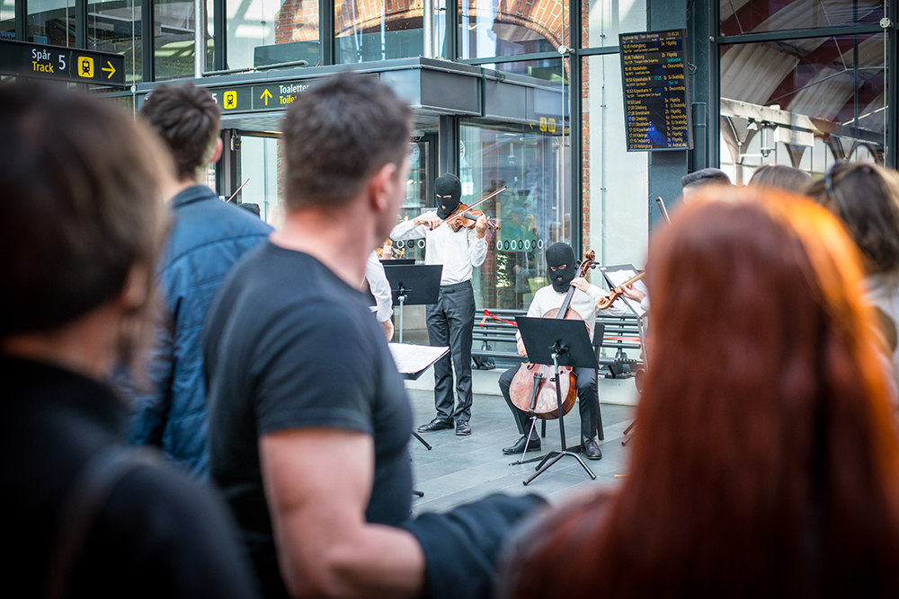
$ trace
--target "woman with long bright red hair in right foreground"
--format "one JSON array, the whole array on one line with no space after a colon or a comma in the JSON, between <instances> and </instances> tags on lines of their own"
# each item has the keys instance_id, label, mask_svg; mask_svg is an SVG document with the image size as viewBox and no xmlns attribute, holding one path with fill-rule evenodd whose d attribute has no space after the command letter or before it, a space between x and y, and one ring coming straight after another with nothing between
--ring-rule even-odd
<instances>
[{"instance_id":1,"label":"woman with long bright red hair in right foreground","mask_svg":"<svg viewBox=\"0 0 899 599\"><path fill-rule=\"evenodd\" d=\"M812 202L717 188L650 251L630 473L508 551L504 596L899 595L899 441L859 252Z\"/></svg>"}]
</instances>

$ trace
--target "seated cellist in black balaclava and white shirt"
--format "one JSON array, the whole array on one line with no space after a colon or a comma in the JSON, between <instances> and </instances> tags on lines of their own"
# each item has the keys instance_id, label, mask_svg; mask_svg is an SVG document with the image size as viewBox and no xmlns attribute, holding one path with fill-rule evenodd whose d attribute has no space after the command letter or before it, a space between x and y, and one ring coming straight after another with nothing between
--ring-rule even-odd
<instances>
[{"instance_id":1,"label":"seated cellist in black balaclava and white shirt","mask_svg":"<svg viewBox=\"0 0 899 599\"><path fill-rule=\"evenodd\" d=\"M547 248L549 285L538 289L534 294L534 299L528 308L528 316L543 316L550 310L561 307L565 296L568 295L568 290L574 287L571 308L587 322L592 335L593 322L596 321L598 312L597 303L604 294L599 287L588 283L587 279L574 278L574 273L577 271L574 261L574 250L567 243L553 243ZM604 313L622 316L627 313L627 308L620 303L612 304ZM522 357L527 357L520 335L518 336L518 353ZM522 436L513 445L504 448L503 454L524 454L525 449L529 452L540 449L540 437L536 430L530 434L530 441L528 439L531 424L528 414L516 408L512 403L509 387L512 385L512 378L516 372L518 372L517 368L510 368L500 375L500 391L503 392L503 397L509 405L509 409L512 410L518 432ZM577 375L577 406L581 412L581 448L588 459L599 460L602 452L597 436L600 400L596 394L596 371L592 368L575 368L574 374Z\"/></svg>"}]
</instances>

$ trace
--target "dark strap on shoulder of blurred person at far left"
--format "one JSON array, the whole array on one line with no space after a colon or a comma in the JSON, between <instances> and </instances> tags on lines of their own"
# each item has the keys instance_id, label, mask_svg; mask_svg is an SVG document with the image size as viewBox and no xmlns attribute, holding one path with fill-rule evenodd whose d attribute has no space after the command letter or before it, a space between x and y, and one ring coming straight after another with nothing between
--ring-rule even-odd
<instances>
[{"instance_id":1,"label":"dark strap on shoulder of blurred person at far left","mask_svg":"<svg viewBox=\"0 0 899 599\"><path fill-rule=\"evenodd\" d=\"M49 554L44 599L67 595L72 568L112 489L130 471L159 462L155 450L125 445L108 445L88 459L62 503L59 529Z\"/></svg>"}]
</instances>

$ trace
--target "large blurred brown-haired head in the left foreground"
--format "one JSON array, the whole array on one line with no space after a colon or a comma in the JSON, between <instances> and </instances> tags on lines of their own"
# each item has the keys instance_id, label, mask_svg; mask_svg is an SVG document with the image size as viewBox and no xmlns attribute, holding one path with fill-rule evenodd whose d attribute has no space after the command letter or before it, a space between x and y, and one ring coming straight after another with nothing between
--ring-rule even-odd
<instances>
[{"instance_id":1,"label":"large blurred brown-haired head in the left foreground","mask_svg":"<svg viewBox=\"0 0 899 599\"><path fill-rule=\"evenodd\" d=\"M171 164L147 128L80 93L3 84L0 138L0 337L76 320L135 265L152 277Z\"/></svg>"}]
</instances>

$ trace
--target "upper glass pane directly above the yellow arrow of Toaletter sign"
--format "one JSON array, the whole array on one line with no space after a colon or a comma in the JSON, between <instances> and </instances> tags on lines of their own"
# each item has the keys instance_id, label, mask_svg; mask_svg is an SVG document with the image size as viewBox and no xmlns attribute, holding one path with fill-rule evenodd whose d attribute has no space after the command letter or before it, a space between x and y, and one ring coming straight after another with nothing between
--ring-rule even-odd
<instances>
[{"instance_id":1,"label":"upper glass pane directly above the yellow arrow of Toaletter sign","mask_svg":"<svg viewBox=\"0 0 899 599\"><path fill-rule=\"evenodd\" d=\"M317 0L227 4L227 66L248 68L306 60L318 64Z\"/></svg>"}]
</instances>

